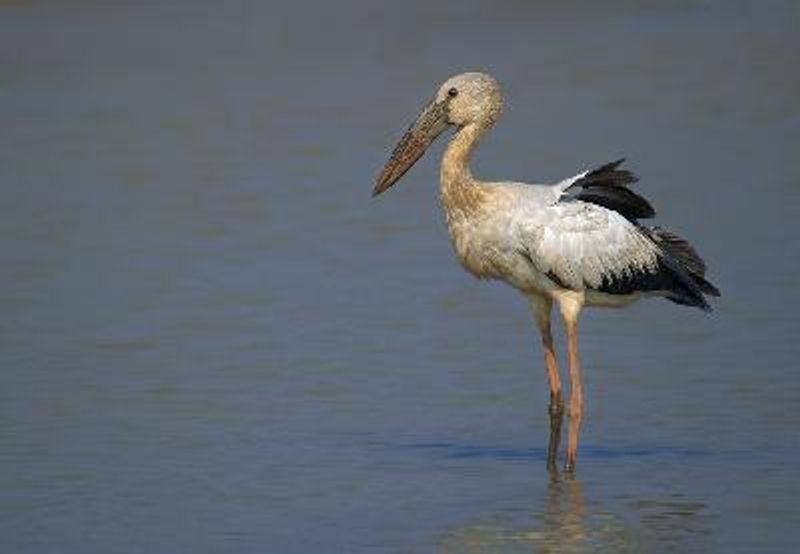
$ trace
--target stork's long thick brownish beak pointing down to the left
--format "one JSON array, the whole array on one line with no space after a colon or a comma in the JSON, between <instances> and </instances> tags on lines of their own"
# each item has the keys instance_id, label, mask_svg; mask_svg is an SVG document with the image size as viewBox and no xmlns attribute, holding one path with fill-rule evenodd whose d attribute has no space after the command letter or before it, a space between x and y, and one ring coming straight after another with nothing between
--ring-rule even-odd
<instances>
[{"instance_id":1,"label":"stork's long thick brownish beak pointing down to the left","mask_svg":"<svg viewBox=\"0 0 800 554\"><path fill-rule=\"evenodd\" d=\"M405 175L406 171L422 157L428 146L447 128L447 102L432 101L417 116L406 134L392 150L389 161L383 166L372 196L377 196Z\"/></svg>"}]
</instances>

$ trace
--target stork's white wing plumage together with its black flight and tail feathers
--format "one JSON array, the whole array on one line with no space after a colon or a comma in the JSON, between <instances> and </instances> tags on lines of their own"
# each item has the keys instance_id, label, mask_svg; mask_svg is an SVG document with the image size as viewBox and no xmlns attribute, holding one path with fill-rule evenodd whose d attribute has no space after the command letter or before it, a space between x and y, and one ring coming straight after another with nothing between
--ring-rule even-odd
<instances>
[{"instance_id":1,"label":"stork's white wing plumage together with its black flight and tail feathers","mask_svg":"<svg viewBox=\"0 0 800 554\"><path fill-rule=\"evenodd\" d=\"M563 288L660 292L710 310L703 294L719 291L704 279L705 265L686 241L636 221L655 211L628 188L637 179L619 169L622 161L565 179L549 200L518 212L520 254Z\"/></svg>"}]
</instances>

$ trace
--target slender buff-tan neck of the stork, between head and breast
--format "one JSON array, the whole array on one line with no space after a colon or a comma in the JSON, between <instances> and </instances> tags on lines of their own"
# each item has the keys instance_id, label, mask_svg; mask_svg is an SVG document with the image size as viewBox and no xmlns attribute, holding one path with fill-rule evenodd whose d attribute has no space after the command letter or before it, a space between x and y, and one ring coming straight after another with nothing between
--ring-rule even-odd
<instances>
[{"instance_id":1,"label":"slender buff-tan neck of the stork, between head and breast","mask_svg":"<svg viewBox=\"0 0 800 554\"><path fill-rule=\"evenodd\" d=\"M483 201L484 191L472 177L470 160L472 151L478 144L485 126L471 123L460 128L444 151L441 167L442 204L448 216L468 215L478 209Z\"/></svg>"}]
</instances>

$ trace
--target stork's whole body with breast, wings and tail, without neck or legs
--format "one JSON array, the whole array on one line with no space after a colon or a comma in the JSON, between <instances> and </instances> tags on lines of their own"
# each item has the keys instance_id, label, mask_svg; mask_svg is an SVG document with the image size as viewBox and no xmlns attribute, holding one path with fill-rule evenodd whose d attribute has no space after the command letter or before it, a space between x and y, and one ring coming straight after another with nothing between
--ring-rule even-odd
<instances>
[{"instance_id":1,"label":"stork's whole body with breast, wings and tail, without neck or legs","mask_svg":"<svg viewBox=\"0 0 800 554\"><path fill-rule=\"evenodd\" d=\"M709 309L703 295L719 291L702 259L674 233L638 221L655 211L629 188L636 178L620 163L554 185L478 183L481 209L448 217L459 261L524 291L586 291L589 304L659 294Z\"/></svg>"}]
</instances>

